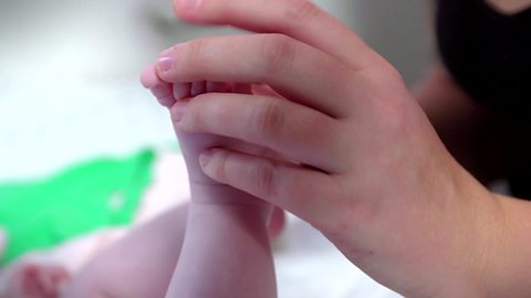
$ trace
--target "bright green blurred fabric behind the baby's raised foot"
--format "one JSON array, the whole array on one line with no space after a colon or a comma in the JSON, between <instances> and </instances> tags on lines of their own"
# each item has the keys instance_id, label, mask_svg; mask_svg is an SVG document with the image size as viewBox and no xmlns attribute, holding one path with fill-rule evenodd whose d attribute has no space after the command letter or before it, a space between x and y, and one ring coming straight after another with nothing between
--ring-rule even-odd
<instances>
[{"instance_id":1,"label":"bright green blurred fabric behind the baby's raised foot","mask_svg":"<svg viewBox=\"0 0 531 298\"><path fill-rule=\"evenodd\" d=\"M0 225L8 246L0 264L100 227L131 223L152 180L155 153L97 159L45 181L0 185Z\"/></svg>"}]
</instances>

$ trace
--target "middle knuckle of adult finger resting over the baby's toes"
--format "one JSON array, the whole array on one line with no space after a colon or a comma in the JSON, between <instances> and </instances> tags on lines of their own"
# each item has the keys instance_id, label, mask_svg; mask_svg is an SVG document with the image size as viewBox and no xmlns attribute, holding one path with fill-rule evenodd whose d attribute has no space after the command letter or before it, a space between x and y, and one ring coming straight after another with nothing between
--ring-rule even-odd
<instances>
[{"instance_id":1,"label":"middle knuckle of adult finger resting over the baby's toes","mask_svg":"<svg viewBox=\"0 0 531 298\"><path fill-rule=\"evenodd\" d=\"M291 64L295 57L294 41L283 34L267 34L262 38L262 63L267 73L275 73Z\"/></svg>"}]
</instances>

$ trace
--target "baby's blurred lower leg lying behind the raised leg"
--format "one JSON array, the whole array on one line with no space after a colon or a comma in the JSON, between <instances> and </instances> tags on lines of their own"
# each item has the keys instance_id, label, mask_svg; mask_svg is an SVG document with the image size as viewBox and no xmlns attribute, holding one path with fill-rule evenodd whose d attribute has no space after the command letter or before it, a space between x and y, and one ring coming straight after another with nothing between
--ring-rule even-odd
<instances>
[{"instance_id":1,"label":"baby's blurred lower leg lying behind the raised leg","mask_svg":"<svg viewBox=\"0 0 531 298\"><path fill-rule=\"evenodd\" d=\"M61 297L164 297L180 253L187 212L187 205L175 207L132 231L75 275Z\"/></svg>"}]
</instances>

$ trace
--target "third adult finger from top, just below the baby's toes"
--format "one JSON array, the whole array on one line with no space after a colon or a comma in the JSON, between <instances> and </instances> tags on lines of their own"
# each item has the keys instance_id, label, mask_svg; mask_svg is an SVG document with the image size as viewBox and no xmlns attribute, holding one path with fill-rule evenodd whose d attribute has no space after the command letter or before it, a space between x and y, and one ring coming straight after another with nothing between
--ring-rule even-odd
<instances>
[{"instance_id":1,"label":"third adult finger from top, just below the baby's toes","mask_svg":"<svg viewBox=\"0 0 531 298\"><path fill-rule=\"evenodd\" d=\"M330 173L342 172L348 150L340 121L289 100L244 95L204 94L170 109L179 130L207 132L267 147ZM238 115L238 117L235 117Z\"/></svg>"}]
</instances>

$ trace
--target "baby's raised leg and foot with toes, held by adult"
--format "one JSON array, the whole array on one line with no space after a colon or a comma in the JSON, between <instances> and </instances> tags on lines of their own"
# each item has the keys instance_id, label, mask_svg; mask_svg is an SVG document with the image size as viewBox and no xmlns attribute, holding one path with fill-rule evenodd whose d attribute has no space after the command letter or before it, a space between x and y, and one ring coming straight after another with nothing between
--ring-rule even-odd
<instances>
[{"instance_id":1,"label":"baby's raised leg and foot with toes, held by adult","mask_svg":"<svg viewBox=\"0 0 531 298\"><path fill-rule=\"evenodd\" d=\"M163 106L178 110L205 93L249 93L249 85L211 81L167 83L148 66L142 83ZM166 297L275 297L267 223L271 205L202 173L199 153L212 147L267 155L225 137L176 129L191 191L186 237ZM227 275L226 273L231 273Z\"/></svg>"}]
</instances>

